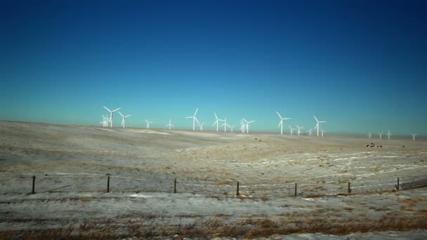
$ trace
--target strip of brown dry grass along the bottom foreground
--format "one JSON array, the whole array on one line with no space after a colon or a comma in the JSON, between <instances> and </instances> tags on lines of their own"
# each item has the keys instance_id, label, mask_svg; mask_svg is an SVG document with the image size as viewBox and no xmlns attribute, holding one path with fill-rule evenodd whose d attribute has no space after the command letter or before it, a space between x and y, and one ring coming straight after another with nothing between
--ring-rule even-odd
<instances>
[{"instance_id":1,"label":"strip of brown dry grass along the bottom foreground","mask_svg":"<svg viewBox=\"0 0 427 240\"><path fill-rule=\"evenodd\" d=\"M322 233L346 235L353 232L411 231L427 228L426 214L399 215L387 214L380 220L370 218L347 219L331 218L325 215L305 218L278 218L265 216L241 218L234 222L222 222L221 218L210 220L195 219L194 223L181 225L167 218L136 218L132 220L86 221L79 227L62 229L26 229L24 231L3 231L5 239L120 239L129 236L152 238L172 237L268 237L274 234Z\"/></svg>"}]
</instances>

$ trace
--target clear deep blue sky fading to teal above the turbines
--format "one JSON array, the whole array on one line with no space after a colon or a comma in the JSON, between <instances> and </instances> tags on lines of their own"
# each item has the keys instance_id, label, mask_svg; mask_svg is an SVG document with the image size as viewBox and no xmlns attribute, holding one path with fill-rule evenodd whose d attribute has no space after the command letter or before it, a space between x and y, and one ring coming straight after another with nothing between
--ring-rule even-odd
<instances>
[{"instance_id":1,"label":"clear deep blue sky fading to teal above the turbines","mask_svg":"<svg viewBox=\"0 0 427 240\"><path fill-rule=\"evenodd\" d=\"M427 135L425 3L2 2L0 120Z\"/></svg>"}]
</instances>

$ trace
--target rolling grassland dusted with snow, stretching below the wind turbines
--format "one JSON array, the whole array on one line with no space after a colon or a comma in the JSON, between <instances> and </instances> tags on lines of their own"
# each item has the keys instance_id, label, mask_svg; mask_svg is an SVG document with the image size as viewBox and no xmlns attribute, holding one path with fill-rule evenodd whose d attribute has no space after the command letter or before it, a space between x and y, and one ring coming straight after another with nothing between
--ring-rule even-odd
<instances>
[{"instance_id":1,"label":"rolling grassland dusted with snow, stretching below the wind turbines","mask_svg":"<svg viewBox=\"0 0 427 240\"><path fill-rule=\"evenodd\" d=\"M427 176L426 156L427 141L411 138L0 121L0 232L426 239L426 189L395 190L397 178ZM29 194L33 175L36 194Z\"/></svg>"}]
</instances>

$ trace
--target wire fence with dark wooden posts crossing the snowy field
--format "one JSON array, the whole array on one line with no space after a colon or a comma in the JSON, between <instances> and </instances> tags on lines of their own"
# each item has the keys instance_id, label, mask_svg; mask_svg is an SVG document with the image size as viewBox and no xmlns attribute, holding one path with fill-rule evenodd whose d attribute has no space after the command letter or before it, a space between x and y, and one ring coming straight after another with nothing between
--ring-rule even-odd
<instances>
[{"instance_id":1,"label":"wire fence with dark wooden posts crossing the snowy field","mask_svg":"<svg viewBox=\"0 0 427 240\"><path fill-rule=\"evenodd\" d=\"M244 185L242 182L210 182L147 175L129 178L121 175L56 174L19 175L0 178L0 194L49 192L180 192L213 197L323 196L367 194L388 190L427 187L427 176L355 182L285 182L283 184Z\"/></svg>"}]
</instances>

